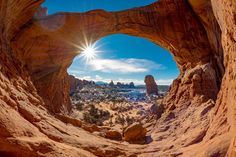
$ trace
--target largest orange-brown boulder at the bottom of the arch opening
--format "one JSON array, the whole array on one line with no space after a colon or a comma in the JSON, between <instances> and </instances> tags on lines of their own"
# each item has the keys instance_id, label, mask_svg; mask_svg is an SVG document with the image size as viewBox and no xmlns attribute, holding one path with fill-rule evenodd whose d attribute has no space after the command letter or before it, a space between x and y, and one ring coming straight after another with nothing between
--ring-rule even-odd
<instances>
[{"instance_id":1,"label":"largest orange-brown boulder at the bottom of the arch opening","mask_svg":"<svg viewBox=\"0 0 236 157\"><path fill-rule=\"evenodd\" d=\"M124 140L129 143L145 143L147 129L139 123L134 123L124 130Z\"/></svg>"}]
</instances>

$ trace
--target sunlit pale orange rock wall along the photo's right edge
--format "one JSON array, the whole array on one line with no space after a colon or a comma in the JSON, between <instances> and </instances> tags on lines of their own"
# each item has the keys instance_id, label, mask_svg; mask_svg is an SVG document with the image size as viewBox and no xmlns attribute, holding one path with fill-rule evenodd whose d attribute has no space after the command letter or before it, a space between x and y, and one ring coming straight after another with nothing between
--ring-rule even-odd
<instances>
[{"instance_id":1,"label":"sunlit pale orange rock wall along the photo's right edge","mask_svg":"<svg viewBox=\"0 0 236 157\"><path fill-rule=\"evenodd\" d=\"M215 113L212 130L221 130L219 118L225 119L230 126L231 146L228 156L236 156L236 1L212 0L216 19L222 30L225 75L217 99L218 110Z\"/></svg>"}]
</instances>

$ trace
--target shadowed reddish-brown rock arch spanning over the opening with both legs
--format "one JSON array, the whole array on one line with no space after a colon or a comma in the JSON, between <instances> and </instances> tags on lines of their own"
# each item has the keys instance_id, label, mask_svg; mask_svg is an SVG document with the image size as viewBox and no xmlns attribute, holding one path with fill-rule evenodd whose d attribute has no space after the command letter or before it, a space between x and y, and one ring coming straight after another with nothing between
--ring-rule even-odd
<instances>
[{"instance_id":1,"label":"shadowed reddish-brown rock arch spanning over the opening with both legs","mask_svg":"<svg viewBox=\"0 0 236 157\"><path fill-rule=\"evenodd\" d=\"M52 112L70 110L66 69L78 54L78 46L85 38L94 42L116 33L146 38L172 53L181 74L167 99L169 103L178 99L175 103L180 104L183 95L184 101L195 95L216 99L223 72L215 66L217 61L213 56L219 56L189 5L185 0L162 0L120 12L95 10L38 16L24 26L12 46ZM211 88L206 89L209 82ZM177 86L184 88L175 91ZM190 91L184 92L186 89Z\"/></svg>"}]
</instances>

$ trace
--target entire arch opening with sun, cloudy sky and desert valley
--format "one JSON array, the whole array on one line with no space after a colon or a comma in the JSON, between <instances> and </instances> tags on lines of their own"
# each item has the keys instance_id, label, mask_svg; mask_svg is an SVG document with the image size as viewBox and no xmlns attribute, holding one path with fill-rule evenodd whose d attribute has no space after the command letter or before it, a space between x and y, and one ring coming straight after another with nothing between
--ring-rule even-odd
<instances>
[{"instance_id":1,"label":"entire arch opening with sun, cloudy sky and desert valley","mask_svg":"<svg viewBox=\"0 0 236 157\"><path fill-rule=\"evenodd\" d=\"M143 127L147 121L160 118L164 112L161 102L179 75L176 62L167 50L147 39L124 34L109 35L95 44L84 45L67 69L75 118L116 130L124 139L125 128L132 124ZM91 54L94 54L92 58ZM145 84L150 75L154 82ZM157 91L149 93L150 88L155 89L153 83L157 83ZM149 124L145 127L148 130L145 138L126 140L138 144L152 142L155 123Z\"/></svg>"}]
</instances>

